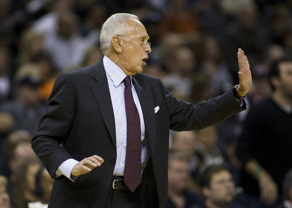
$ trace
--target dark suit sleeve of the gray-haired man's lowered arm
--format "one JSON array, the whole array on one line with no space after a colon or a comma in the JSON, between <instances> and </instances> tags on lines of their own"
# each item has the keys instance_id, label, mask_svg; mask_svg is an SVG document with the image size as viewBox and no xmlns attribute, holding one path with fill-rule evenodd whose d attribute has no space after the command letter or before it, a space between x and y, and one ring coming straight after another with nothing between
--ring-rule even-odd
<instances>
[{"instance_id":1,"label":"dark suit sleeve of the gray-haired man's lowered arm","mask_svg":"<svg viewBox=\"0 0 292 208\"><path fill-rule=\"evenodd\" d=\"M72 158L60 144L66 142L74 115L73 85L66 74L61 74L55 81L47 111L32 139L32 148L52 178L60 164Z\"/></svg>"}]
</instances>

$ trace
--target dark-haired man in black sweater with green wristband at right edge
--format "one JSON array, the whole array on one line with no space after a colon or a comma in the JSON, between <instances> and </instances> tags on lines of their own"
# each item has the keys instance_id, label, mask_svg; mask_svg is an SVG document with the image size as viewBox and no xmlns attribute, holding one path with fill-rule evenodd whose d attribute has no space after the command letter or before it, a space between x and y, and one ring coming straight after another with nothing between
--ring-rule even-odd
<instances>
[{"instance_id":1,"label":"dark-haired man in black sweater with green wristband at right edge","mask_svg":"<svg viewBox=\"0 0 292 208\"><path fill-rule=\"evenodd\" d=\"M249 208L279 203L284 175L292 168L292 61L272 64L269 80L272 95L250 110L237 143L244 165L238 200Z\"/></svg>"}]
</instances>

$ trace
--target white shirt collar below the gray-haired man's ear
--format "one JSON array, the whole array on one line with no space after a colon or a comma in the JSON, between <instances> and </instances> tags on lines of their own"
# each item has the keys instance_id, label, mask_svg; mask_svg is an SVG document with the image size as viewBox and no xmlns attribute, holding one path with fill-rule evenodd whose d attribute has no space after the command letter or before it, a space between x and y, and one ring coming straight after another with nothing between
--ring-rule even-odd
<instances>
[{"instance_id":1,"label":"white shirt collar below the gray-haired man's ear","mask_svg":"<svg viewBox=\"0 0 292 208\"><path fill-rule=\"evenodd\" d=\"M125 72L113 63L107 56L104 56L103 64L115 87L117 87L125 79L125 77L127 77Z\"/></svg>"}]
</instances>

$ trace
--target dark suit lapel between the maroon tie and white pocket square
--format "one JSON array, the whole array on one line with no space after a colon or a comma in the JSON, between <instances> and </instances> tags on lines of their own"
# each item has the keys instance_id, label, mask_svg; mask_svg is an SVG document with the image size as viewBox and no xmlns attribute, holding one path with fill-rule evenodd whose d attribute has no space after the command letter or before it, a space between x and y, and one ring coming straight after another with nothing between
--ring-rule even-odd
<instances>
[{"instance_id":1,"label":"dark suit lapel between the maroon tie and white pocket square","mask_svg":"<svg viewBox=\"0 0 292 208\"><path fill-rule=\"evenodd\" d=\"M155 149L155 113L153 107L153 100L150 92L146 91L139 85L137 80L132 76L132 82L135 87L135 91L139 98L139 102L143 112L144 124L145 124L145 137L148 140L150 154L153 157Z\"/></svg>"}]
</instances>

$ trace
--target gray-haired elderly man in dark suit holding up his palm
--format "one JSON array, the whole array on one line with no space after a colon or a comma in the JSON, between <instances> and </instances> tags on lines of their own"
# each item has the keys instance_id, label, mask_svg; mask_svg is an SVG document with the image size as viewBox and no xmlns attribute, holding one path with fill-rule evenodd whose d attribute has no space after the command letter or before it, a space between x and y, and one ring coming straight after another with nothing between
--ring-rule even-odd
<instances>
[{"instance_id":1,"label":"gray-haired elderly man in dark suit holding up his palm","mask_svg":"<svg viewBox=\"0 0 292 208\"><path fill-rule=\"evenodd\" d=\"M169 129L204 128L246 108L252 79L241 49L239 86L194 105L141 73L148 39L137 16L112 15L100 33L103 60L56 79L32 141L55 178L49 208L163 208Z\"/></svg>"}]
</instances>

